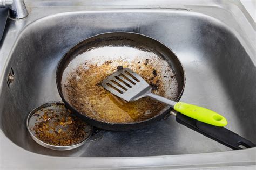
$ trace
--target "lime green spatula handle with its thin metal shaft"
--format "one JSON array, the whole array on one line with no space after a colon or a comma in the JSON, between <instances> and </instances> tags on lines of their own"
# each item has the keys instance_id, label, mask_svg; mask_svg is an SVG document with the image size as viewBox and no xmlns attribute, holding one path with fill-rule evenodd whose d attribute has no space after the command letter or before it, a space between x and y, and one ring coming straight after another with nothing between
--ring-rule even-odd
<instances>
[{"instance_id":1,"label":"lime green spatula handle with its thin metal shaft","mask_svg":"<svg viewBox=\"0 0 256 170\"><path fill-rule=\"evenodd\" d=\"M180 112L183 115L196 119L198 121L211 124L214 126L227 125L227 120L225 117L221 116L217 112L212 111L210 109L202 108L197 105L192 105L192 104L183 103L183 102L177 103L153 93L146 94L146 96L154 98L159 102L171 105L171 107L173 107L174 110Z\"/></svg>"}]
</instances>

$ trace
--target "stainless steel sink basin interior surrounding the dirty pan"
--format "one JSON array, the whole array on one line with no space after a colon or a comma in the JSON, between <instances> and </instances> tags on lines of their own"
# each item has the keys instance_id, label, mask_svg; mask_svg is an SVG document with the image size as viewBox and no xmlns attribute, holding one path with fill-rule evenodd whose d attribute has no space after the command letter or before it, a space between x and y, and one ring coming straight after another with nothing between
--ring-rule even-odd
<instances>
[{"instance_id":1,"label":"stainless steel sink basin interior surrounding the dirty pan","mask_svg":"<svg viewBox=\"0 0 256 170\"><path fill-rule=\"evenodd\" d=\"M47 23L47 24L45 24ZM173 117L148 128L104 133L73 151L49 151L26 130L30 110L60 101L56 67L69 48L95 34L129 31L169 46L184 65L182 100L222 113L228 128L256 141L254 104L256 77L252 60L237 38L217 20L187 12L71 12L37 20L19 36L9 68L14 82L5 83L2 126L5 135L26 150L77 157L130 157L227 151L227 147L176 123ZM10 86L10 88L9 88ZM15 103L15 104L14 104ZM150 150L148 148L151 148Z\"/></svg>"}]
</instances>

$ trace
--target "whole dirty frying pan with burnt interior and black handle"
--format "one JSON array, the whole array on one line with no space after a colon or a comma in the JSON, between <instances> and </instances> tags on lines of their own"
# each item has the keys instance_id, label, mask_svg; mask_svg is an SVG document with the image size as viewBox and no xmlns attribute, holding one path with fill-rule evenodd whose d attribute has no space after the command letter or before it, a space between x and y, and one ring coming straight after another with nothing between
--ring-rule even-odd
<instances>
[{"instance_id":1,"label":"whole dirty frying pan with burnt interior and black handle","mask_svg":"<svg viewBox=\"0 0 256 170\"><path fill-rule=\"evenodd\" d=\"M128 103L114 96L101 83L122 67L142 76L154 94L176 102L183 94L184 69L170 48L142 34L110 32L79 42L60 60L56 82L66 107L106 130L140 129L171 114L178 123L234 150L255 146L226 128L197 121L151 98Z\"/></svg>"}]
</instances>

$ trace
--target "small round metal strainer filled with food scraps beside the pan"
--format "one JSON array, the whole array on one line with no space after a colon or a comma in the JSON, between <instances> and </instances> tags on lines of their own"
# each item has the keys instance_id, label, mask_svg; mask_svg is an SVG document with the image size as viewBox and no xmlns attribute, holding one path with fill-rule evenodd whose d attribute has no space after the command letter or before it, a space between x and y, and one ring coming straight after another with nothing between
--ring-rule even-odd
<instances>
[{"instance_id":1,"label":"small round metal strainer filled with food scraps beside the pan","mask_svg":"<svg viewBox=\"0 0 256 170\"><path fill-rule=\"evenodd\" d=\"M46 103L33 109L26 127L33 140L52 150L77 148L92 134L92 126L73 116L62 102Z\"/></svg>"}]
</instances>

